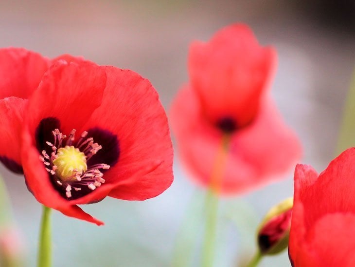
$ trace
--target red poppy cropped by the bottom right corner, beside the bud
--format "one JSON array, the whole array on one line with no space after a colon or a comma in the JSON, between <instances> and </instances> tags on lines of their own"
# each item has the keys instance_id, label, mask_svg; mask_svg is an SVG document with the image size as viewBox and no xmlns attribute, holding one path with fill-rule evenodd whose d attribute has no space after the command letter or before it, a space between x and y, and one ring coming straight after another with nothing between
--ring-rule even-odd
<instances>
[{"instance_id":1,"label":"red poppy cropped by the bottom right corner, beside the bud","mask_svg":"<svg viewBox=\"0 0 355 267\"><path fill-rule=\"evenodd\" d=\"M317 174L295 170L289 255L294 267L355 266L355 148Z\"/></svg>"}]
</instances>

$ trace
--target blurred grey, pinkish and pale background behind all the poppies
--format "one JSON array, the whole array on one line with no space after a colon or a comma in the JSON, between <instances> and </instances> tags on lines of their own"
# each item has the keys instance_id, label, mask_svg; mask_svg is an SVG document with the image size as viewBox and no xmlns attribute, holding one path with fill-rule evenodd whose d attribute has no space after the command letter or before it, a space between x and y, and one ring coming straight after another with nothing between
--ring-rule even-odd
<instances>
[{"instance_id":1,"label":"blurred grey, pinkish and pale background behind all the poppies","mask_svg":"<svg viewBox=\"0 0 355 267\"><path fill-rule=\"evenodd\" d=\"M247 23L262 44L277 49L272 95L302 140L302 162L322 171L335 155L342 105L355 66L353 1L2 0L0 47L25 47L47 57L81 55L101 65L134 70L152 82L168 110L179 86L188 80L189 43L208 40L221 27L238 21ZM106 198L83 207L103 220L104 227L54 211L53 266L170 266L181 223L193 205L197 216L203 194L180 166L176 152L175 181L157 198L144 202ZM26 266L35 266L41 206L23 177L2 166L0 172L25 238ZM221 219L215 266L236 266L249 253L252 229L260 218L293 194L292 172L281 182L221 201L229 215ZM189 224L191 239L201 239L203 225ZM191 266L198 266L200 243ZM287 253L269 257L261 266L289 266Z\"/></svg>"}]
</instances>

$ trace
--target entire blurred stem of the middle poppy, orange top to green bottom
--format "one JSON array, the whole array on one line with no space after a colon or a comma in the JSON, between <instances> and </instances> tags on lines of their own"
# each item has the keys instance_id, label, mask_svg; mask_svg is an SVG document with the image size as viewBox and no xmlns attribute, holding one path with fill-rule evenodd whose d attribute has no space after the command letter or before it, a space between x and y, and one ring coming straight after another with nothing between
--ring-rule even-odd
<instances>
[{"instance_id":1,"label":"entire blurred stem of the middle poppy, orange top to green bottom","mask_svg":"<svg viewBox=\"0 0 355 267\"><path fill-rule=\"evenodd\" d=\"M217 229L218 194L225 172L230 135L224 134L213 165L210 186L206 194L206 230L202 251L202 266L212 267Z\"/></svg>"}]
</instances>

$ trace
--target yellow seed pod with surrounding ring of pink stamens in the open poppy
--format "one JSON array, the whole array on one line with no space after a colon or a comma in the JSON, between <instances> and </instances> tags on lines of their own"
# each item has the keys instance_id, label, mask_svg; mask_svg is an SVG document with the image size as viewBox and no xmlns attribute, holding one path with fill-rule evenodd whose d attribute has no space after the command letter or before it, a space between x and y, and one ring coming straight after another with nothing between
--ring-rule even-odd
<instances>
[{"instance_id":1,"label":"yellow seed pod with surrounding ring of pink stamens in the open poppy","mask_svg":"<svg viewBox=\"0 0 355 267\"><path fill-rule=\"evenodd\" d=\"M77 142L74 142L75 129L68 138L58 129L52 131L52 134L54 142L46 142L52 153L49 155L43 150L39 159L63 196L71 198L72 191L82 191L80 196L83 196L105 183L104 173L100 170L108 170L110 166L105 163L88 163L89 159L102 149L92 137L87 138L88 132L83 132Z\"/></svg>"}]
</instances>

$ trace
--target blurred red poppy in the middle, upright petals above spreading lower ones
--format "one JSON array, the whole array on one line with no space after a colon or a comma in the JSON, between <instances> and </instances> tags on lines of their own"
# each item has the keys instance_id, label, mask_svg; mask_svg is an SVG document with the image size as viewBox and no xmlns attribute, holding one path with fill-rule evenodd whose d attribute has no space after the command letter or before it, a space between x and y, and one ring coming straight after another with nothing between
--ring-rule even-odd
<instances>
[{"instance_id":1,"label":"blurred red poppy in the middle, upright petals above spreading lower ones","mask_svg":"<svg viewBox=\"0 0 355 267\"><path fill-rule=\"evenodd\" d=\"M208 186L222 135L230 135L222 193L240 193L286 172L301 146L267 94L276 53L234 24L190 47L190 84L178 93L171 124L184 163Z\"/></svg>"}]
</instances>

